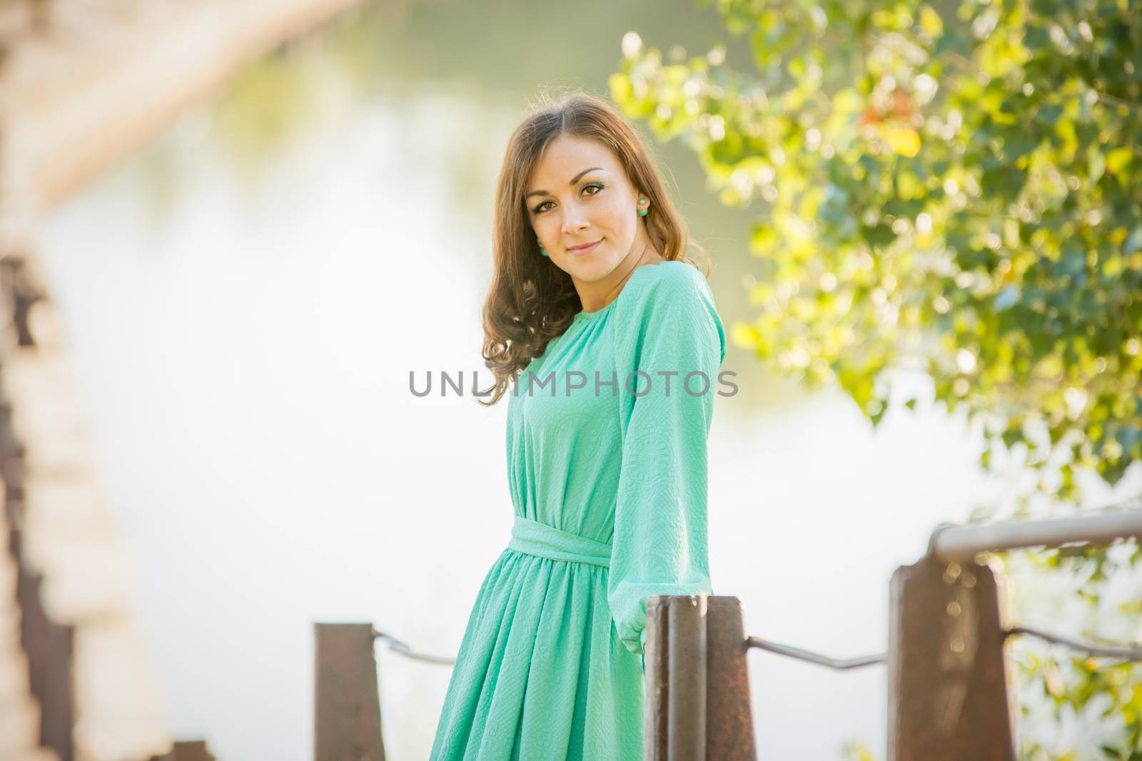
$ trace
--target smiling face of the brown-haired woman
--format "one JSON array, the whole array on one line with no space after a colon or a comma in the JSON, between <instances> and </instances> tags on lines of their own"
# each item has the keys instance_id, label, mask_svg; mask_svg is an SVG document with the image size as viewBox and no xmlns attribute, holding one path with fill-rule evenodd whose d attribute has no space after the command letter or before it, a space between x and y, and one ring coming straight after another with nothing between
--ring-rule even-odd
<instances>
[{"instance_id":1,"label":"smiling face of the brown-haired woman","mask_svg":"<svg viewBox=\"0 0 1142 761\"><path fill-rule=\"evenodd\" d=\"M547 256L585 282L610 275L648 241L638 199L610 148L569 135L547 144L524 187L528 218ZM648 200L641 208L649 207ZM582 244L588 248L577 252Z\"/></svg>"}]
</instances>

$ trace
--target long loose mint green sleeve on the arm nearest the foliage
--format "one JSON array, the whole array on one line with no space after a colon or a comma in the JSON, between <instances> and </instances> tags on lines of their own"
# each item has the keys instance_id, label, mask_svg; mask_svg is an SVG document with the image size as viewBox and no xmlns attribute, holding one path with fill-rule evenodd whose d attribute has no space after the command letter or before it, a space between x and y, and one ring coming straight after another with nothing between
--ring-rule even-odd
<instances>
[{"instance_id":1,"label":"long loose mint green sleeve on the arm nearest the foliage","mask_svg":"<svg viewBox=\"0 0 1142 761\"><path fill-rule=\"evenodd\" d=\"M638 655L648 596L713 593L706 447L725 358L706 277L685 262L645 266L662 272L614 314L622 464L608 581L619 639Z\"/></svg>"}]
</instances>

